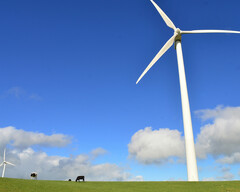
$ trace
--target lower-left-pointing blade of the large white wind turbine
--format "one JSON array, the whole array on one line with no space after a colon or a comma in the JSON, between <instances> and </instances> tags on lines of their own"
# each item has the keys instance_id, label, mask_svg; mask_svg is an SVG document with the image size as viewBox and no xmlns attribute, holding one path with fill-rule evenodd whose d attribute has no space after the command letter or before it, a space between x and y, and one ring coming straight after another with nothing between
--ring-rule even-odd
<instances>
[{"instance_id":1,"label":"lower-left-pointing blade of the large white wind turbine","mask_svg":"<svg viewBox=\"0 0 240 192\"><path fill-rule=\"evenodd\" d=\"M142 77L148 72L148 70L157 62L157 60L173 45L175 37L177 34L174 34L168 41L165 43L165 45L162 47L162 49L157 53L157 55L153 58L151 63L147 66L147 68L143 71L141 76L138 78L136 84L142 79Z\"/></svg>"}]
</instances>

